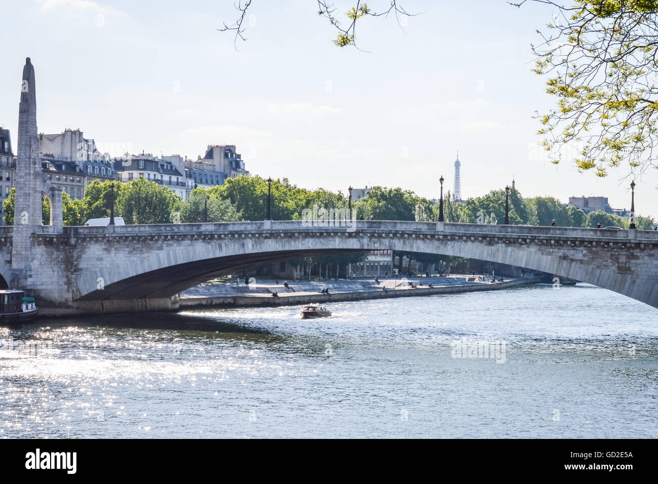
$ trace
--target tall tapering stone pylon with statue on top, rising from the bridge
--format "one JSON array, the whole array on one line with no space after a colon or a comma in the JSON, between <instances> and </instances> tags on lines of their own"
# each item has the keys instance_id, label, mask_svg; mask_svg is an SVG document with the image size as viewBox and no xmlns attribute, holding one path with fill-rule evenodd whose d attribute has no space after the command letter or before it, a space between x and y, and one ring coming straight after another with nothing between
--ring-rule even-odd
<instances>
[{"instance_id":1,"label":"tall tapering stone pylon with statue on top, rising from the bridge","mask_svg":"<svg viewBox=\"0 0 658 484\"><path fill-rule=\"evenodd\" d=\"M12 269L27 269L30 264L30 236L43 232L41 227L41 194L51 200L51 224L61 231L62 192L52 186L41 172L39 136L37 130L37 94L34 66L25 59L18 105L18 152L16 155L16 187L14 203L14 235L11 256ZM24 279L24 278L21 278Z\"/></svg>"}]
</instances>

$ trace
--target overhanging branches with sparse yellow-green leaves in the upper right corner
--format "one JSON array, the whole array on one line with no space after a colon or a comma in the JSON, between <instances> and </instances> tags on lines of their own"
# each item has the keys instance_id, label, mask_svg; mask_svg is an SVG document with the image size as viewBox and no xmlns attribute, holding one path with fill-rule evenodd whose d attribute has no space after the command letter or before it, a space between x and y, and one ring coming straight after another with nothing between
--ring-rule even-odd
<instances>
[{"instance_id":1,"label":"overhanging branches with sparse yellow-green leaves in the upper right corner","mask_svg":"<svg viewBox=\"0 0 658 484\"><path fill-rule=\"evenodd\" d=\"M559 163L565 147L576 145L579 171L627 161L630 173L655 167L658 124L658 1L572 0L557 9L539 47L537 74L549 75L546 92L555 109L540 116L544 148ZM522 0L517 6L525 3Z\"/></svg>"}]
</instances>

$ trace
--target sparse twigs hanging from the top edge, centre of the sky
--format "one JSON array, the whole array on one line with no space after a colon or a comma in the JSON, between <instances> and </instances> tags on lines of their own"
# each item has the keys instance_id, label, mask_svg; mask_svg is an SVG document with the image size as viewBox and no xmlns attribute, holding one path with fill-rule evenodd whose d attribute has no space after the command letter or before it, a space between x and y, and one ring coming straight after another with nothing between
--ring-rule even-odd
<instances>
[{"instance_id":1,"label":"sparse twigs hanging from the top edge, centre of the sky","mask_svg":"<svg viewBox=\"0 0 658 484\"><path fill-rule=\"evenodd\" d=\"M342 24L338 18L334 15L336 12L336 8L332 3L327 2L326 0L317 0L318 2L318 15L321 17L326 18L329 20L329 23L338 30L338 36L336 39L333 41L335 45L338 47L345 47L346 45L353 45L356 47L356 27L357 27L357 20L365 17L365 16L371 16L371 17L378 17L378 16L388 16L388 14L393 13L395 14L395 18L397 19L397 22L401 24L401 18L409 17L409 16L414 16L415 14L410 14L403 9L400 5L397 5L396 0L388 0L390 1L390 4L388 5L388 9L381 11L380 13L375 13L368 7L367 3L361 0L357 0L351 9L347 11L347 18L349 19L349 24L347 24L346 28L342 27ZM240 1L238 1L238 4L236 5L236 9L239 12L238 20L234 22L234 24L228 26L226 23L224 23L223 28L218 28L217 30L219 32L228 32L228 31L234 31L236 32L235 38L233 40L234 46L236 47L236 50L238 49L237 47L237 42L238 38L241 40L246 40L243 36L246 28L242 26L242 24L245 22L245 18L247 16L247 9L251 7L251 0L245 1L244 4L242 4ZM357 47L358 48L358 47Z\"/></svg>"}]
</instances>

